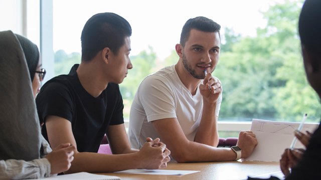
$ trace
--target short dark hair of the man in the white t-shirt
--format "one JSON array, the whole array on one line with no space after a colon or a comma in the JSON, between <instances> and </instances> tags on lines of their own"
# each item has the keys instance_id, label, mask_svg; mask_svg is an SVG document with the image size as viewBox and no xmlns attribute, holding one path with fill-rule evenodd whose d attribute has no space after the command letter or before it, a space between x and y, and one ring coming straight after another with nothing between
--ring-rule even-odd
<instances>
[{"instance_id":1,"label":"short dark hair of the man in the white t-shirt","mask_svg":"<svg viewBox=\"0 0 321 180\"><path fill-rule=\"evenodd\" d=\"M182 44L183 46L185 46L185 43L189 38L192 29L197 29L204 32L218 32L220 36L221 25L214 22L212 19L203 16L188 19L185 22L181 33L180 44Z\"/></svg>"}]
</instances>

